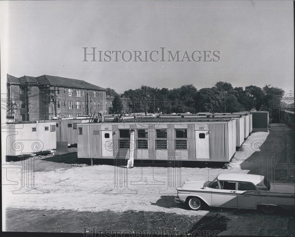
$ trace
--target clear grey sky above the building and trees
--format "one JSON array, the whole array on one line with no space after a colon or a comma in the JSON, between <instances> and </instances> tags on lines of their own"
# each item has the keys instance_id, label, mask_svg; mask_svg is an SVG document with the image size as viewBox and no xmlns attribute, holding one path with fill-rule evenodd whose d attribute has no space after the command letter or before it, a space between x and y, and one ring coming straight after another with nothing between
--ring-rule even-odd
<instances>
[{"instance_id":1,"label":"clear grey sky above the building and trees","mask_svg":"<svg viewBox=\"0 0 295 237\"><path fill-rule=\"evenodd\" d=\"M118 93L218 81L294 93L293 1L0 1L0 27L1 84L7 73L46 74ZM84 61L83 48L92 53L91 47L96 61L93 55ZM153 62L149 55L161 55L160 47L164 60L153 52ZM108 50L126 51L125 61L113 53L100 62L98 51ZM143 62L134 61L136 50ZM168 61L168 50L179 50L180 59ZM207 58L204 51L211 51ZM189 58L181 61L185 52Z\"/></svg>"}]
</instances>

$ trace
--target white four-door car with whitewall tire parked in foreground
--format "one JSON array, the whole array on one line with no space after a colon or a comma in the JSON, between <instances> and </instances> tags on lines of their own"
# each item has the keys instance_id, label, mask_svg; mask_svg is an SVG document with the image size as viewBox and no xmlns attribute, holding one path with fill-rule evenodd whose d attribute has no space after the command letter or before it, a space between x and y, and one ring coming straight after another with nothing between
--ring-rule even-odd
<instances>
[{"instance_id":1,"label":"white four-door car with whitewall tire parked in foreground","mask_svg":"<svg viewBox=\"0 0 295 237\"><path fill-rule=\"evenodd\" d=\"M212 182L184 182L177 188L175 202L186 203L192 210L200 210L207 204L212 207L261 208L264 213L271 214L276 207L295 207L292 189L294 186L287 193L272 190L261 175L219 174Z\"/></svg>"}]
</instances>

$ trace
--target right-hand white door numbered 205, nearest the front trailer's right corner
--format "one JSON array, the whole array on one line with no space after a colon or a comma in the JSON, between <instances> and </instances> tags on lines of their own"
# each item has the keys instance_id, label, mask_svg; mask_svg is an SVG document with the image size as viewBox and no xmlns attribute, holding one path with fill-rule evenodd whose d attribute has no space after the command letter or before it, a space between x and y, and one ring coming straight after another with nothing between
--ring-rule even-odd
<instances>
[{"instance_id":1,"label":"right-hand white door numbered 205, nearest the front trailer's right corner","mask_svg":"<svg viewBox=\"0 0 295 237\"><path fill-rule=\"evenodd\" d=\"M208 125L196 125L196 160L209 160L209 130Z\"/></svg>"}]
</instances>

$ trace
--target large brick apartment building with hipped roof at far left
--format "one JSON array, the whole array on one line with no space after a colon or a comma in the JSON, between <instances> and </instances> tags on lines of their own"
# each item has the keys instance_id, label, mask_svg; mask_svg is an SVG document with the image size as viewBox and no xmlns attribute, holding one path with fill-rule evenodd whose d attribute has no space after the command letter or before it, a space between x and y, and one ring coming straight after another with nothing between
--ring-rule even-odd
<instances>
[{"instance_id":1,"label":"large brick apartment building with hipped roof at far left","mask_svg":"<svg viewBox=\"0 0 295 237\"><path fill-rule=\"evenodd\" d=\"M106 89L83 80L7 74L7 116L15 121L49 120L106 112Z\"/></svg>"}]
</instances>

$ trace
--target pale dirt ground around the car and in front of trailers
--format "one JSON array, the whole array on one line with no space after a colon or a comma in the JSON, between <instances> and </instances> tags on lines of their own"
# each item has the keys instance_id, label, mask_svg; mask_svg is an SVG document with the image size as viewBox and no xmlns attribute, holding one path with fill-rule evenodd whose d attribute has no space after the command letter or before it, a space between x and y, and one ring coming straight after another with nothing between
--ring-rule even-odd
<instances>
[{"instance_id":1,"label":"pale dirt ground around the car and in front of trailers","mask_svg":"<svg viewBox=\"0 0 295 237\"><path fill-rule=\"evenodd\" d=\"M293 139L290 144L294 144L294 132L289 133L289 140ZM174 202L176 187L186 180L213 180L219 173L258 172L260 153L251 145L266 138L279 137L275 130L252 133L227 169L90 166L89 160L77 160L76 148L66 154L9 162L6 179L14 185L2 186L2 208L6 210L3 229L91 233L94 227L96 233L155 231L174 235L202 231L205 236L205 231L211 231L211 235L217 231L218 235L295 236L292 210L278 210L273 215L213 207L192 211ZM276 157L289 157L290 150L285 145ZM275 180L286 181L294 190L293 173L291 170L284 176L284 171L277 172L281 176Z\"/></svg>"}]
</instances>

